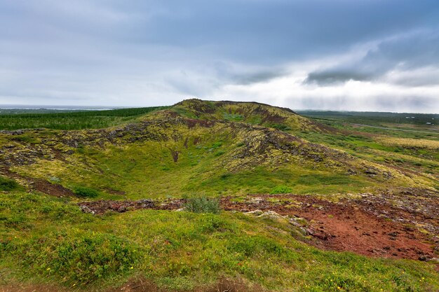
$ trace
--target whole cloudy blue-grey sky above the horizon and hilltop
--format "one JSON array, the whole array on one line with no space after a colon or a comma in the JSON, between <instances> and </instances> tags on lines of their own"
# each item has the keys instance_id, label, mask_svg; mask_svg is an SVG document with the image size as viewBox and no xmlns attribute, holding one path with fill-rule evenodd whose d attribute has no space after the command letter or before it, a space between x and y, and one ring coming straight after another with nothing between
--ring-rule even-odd
<instances>
[{"instance_id":1,"label":"whole cloudy blue-grey sky above the horizon and hilltop","mask_svg":"<svg viewBox=\"0 0 439 292\"><path fill-rule=\"evenodd\" d=\"M439 113L438 0L0 0L0 104Z\"/></svg>"}]
</instances>

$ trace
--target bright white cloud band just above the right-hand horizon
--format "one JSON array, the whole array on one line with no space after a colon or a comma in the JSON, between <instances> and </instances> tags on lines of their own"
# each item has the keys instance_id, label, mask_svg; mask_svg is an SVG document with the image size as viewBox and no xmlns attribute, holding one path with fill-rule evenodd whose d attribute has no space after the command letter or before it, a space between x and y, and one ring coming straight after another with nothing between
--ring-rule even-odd
<instances>
[{"instance_id":1,"label":"bright white cloud band just above the right-hand horizon","mask_svg":"<svg viewBox=\"0 0 439 292\"><path fill-rule=\"evenodd\" d=\"M305 64L306 65L306 64ZM227 85L213 98L255 100L290 109L338 111L439 112L439 85L405 88L399 85L347 81L328 86L304 86L304 75L292 74L267 83Z\"/></svg>"}]
</instances>

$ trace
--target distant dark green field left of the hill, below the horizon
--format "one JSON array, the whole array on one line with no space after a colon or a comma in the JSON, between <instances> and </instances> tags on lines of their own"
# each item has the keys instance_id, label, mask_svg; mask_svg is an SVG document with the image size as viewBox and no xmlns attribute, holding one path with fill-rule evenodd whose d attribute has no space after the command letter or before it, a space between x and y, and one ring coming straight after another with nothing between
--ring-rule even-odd
<instances>
[{"instance_id":1,"label":"distant dark green field left of the hill, below the horizon","mask_svg":"<svg viewBox=\"0 0 439 292\"><path fill-rule=\"evenodd\" d=\"M18 130L45 127L53 130L81 130L111 127L134 120L151 111L165 109L154 106L135 109L113 109L107 111L59 111L59 110L18 110L2 109L0 130ZM15 110L17 111L17 110ZM22 113L22 111L27 111ZM50 111L50 112L46 112ZM41 113L43 112L43 113Z\"/></svg>"}]
</instances>

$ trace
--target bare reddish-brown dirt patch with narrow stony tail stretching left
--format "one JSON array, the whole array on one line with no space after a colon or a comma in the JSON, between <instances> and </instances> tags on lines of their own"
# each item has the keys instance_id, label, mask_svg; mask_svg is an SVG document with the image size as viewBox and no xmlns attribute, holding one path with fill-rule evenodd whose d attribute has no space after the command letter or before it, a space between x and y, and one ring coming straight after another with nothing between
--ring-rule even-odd
<instances>
[{"instance_id":1,"label":"bare reddish-brown dirt patch with narrow stony tail stretching left","mask_svg":"<svg viewBox=\"0 0 439 292\"><path fill-rule=\"evenodd\" d=\"M283 216L305 218L307 224L304 228L312 237L309 243L321 249L385 258L426 260L434 257L430 236L390 218L377 216L355 202L334 203L300 195L259 197L250 203L231 202L226 198L223 206L226 210L271 210ZM281 200L272 202L267 199Z\"/></svg>"}]
</instances>

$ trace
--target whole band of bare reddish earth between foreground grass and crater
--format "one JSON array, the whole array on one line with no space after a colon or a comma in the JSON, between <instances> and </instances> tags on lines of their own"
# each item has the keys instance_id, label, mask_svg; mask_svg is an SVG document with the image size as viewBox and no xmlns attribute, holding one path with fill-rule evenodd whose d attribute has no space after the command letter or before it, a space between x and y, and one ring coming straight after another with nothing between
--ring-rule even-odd
<instances>
[{"instance_id":1,"label":"whole band of bare reddish earth between foreground grass and crater","mask_svg":"<svg viewBox=\"0 0 439 292\"><path fill-rule=\"evenodd\" d=\"M436 195L430 199L414 199L410 202L411 207L398 206L399 201L394 197L386 193L380 196L365 194L356 200L330 202L311 195L248 195L243 200L223 197L220 204L225 211L273 211L288 216L285 218L290 218L290 222L306 235L302 240L320 249L353 251L383 258L437 258L439 202ZM176 210L183 204L183 199L79 203L83 211L94 214L133 209Z\"/></svg>"}]
</instances>

